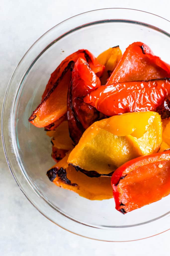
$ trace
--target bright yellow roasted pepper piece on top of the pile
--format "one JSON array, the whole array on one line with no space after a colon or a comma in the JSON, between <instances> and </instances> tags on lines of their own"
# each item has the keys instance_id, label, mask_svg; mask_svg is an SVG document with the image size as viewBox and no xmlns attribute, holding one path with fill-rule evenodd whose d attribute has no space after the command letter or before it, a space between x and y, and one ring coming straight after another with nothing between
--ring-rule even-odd
<instances>
[{"instance_id":1,"label":"bright yellow roasted pepper piece on top of the pile","mask_svg":"<svg viewBox=\"0 0 170 256\"><path fill-rule=\"evenodd\" d=\"M93 171L110 174L130 159L158 152L161 142L162 123L158 113L112 116L93 123L83 133L68 163L77 170L90 171L90 175Z\"/></svg>"}]
</instances>

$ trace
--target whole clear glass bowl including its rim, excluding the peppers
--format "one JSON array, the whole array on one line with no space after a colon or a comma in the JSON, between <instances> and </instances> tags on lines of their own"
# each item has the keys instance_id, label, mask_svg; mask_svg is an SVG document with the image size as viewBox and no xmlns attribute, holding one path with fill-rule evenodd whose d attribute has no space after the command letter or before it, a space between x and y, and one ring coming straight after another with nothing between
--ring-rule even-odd
<instances>
[{"instance_id":1,"label":"whole clear glass bowl including its rim, excluding the peppers","mask_svg":"<svg viewBox=\"0 0 170 256\"><path fill-rule=\"evenodd\" d=\"M47 31L18 64L2 112L6 159L28 200L60 227L104 241L132 241L170 228L170 196L123 215L114 209L114 199L90 201L55 186L46 176L46 171L54 165L50 139L43 128L28 122L41 101L50 74L72 52L85 48L97 56L109 47L120 45L124 51L132 42L142 41L168 62L168 31L168 20L139 10L94 10Z\"/></svg>"}]
</instances>

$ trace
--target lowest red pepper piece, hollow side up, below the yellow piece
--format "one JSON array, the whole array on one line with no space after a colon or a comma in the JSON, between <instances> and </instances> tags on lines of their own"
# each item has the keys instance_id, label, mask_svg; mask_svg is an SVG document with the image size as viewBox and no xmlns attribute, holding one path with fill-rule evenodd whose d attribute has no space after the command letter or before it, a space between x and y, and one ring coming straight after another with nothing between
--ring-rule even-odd
<instances>
[{"instance_id":1,"label":"lowest red pepper piece, hollow side up, below the yellow piece","mask_svg":"<svg viewBox=\"0 0 170 256\"><path fill-rule=\"evenodd\" d=\"M170 193L170 151L135 158L112 175L116 209L123 214Z\"/></svg>"}]
</instances>

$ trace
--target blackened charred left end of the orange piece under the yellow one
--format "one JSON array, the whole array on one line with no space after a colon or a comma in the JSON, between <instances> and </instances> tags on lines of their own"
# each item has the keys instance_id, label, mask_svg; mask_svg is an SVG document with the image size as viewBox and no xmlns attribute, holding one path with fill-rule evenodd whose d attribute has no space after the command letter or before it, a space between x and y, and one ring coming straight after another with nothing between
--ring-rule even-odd
<instances>
[{"instance_id":1,"label":"blackened charred left end of the orange piece under the yellow one","mask_svg":"<svg viewBox=\"0 0 170 256\"><path fill-rule=\"evenodd\" d=\"M66 169L62 167L60 169L58 169L58 167L51 168L50 170L47 171L46 175L48 176L49 180L52 182L58 176L65 184L73 187L78 186L76 183L71 183L71 180L67 178Z\"/></svg>"}]
</instances>

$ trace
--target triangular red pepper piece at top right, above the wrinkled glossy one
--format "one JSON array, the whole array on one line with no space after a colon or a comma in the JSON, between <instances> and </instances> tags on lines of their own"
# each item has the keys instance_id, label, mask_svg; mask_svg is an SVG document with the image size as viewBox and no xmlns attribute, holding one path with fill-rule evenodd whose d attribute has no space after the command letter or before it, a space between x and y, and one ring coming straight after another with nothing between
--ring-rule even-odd
<instances>
[{"instance_id":1,"label":"triangular red pepper piece at top right, above the wrinkled glossy one","mask_svg":"<svg viewBox=\"0 0 170 256\"><path fill-rule=\"evenodd\" d=\"M113 70L107 85L138 80L170 78L170 65L154 56L142 42L129 45Z\"/></svg>"}]
</instances>

